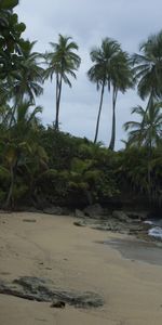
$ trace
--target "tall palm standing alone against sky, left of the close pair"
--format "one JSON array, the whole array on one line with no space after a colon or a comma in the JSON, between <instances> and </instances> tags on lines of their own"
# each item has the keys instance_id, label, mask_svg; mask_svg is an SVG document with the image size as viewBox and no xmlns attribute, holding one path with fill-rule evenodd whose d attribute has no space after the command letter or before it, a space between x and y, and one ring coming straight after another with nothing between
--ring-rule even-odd
<instances>
[{"instance_id":1,"label":"tall palm standing alone against sky, left of the close pair","mask_svg":"<svg viewBox=\"0 0 162 325\"><path fill-rule=\"evenodd\" d=\"M76 78L76 70L79 68L81 58L73 51L78 51L78 44L71 41L71 37L62 36L59 34L57 43L50 43L53 51L45 54L48 68L44 73L44 78L53 79L56 77L56 117L55 129L58 130L59 105L62 95L63 81L71 87L68 76Z\"/></svg>"}]
</instances>

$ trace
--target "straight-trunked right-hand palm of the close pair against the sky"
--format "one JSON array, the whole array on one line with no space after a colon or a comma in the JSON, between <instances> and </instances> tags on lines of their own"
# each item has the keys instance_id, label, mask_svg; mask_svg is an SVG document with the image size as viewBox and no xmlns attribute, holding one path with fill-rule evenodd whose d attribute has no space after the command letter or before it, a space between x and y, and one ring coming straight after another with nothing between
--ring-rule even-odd
<instances>
[{"instance_id":1,"label":"straight-trunked right-hand palm of the close pair against the sky","mask_svg":"<svg viewBox=\"0 0 162 325\"><path fill-rule=\"evenodd\" d=\"M109 148L113 151L116 142L116 105L118 92L121 91L124 93L129 88L133 87L133 75L130 57L126 52L121 50L113 56L110 79L112 86L112 130Z\"/></svg>"}]
</instances>

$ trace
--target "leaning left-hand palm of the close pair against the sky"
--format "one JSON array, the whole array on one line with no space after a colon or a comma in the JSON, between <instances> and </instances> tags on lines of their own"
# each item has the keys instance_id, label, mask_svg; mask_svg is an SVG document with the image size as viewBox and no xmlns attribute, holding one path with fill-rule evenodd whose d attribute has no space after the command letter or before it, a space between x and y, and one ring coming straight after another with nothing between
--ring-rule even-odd
<instances>
[{"instance_id":1,"label":"leaning left-hand palm of the close pair against the sky","mask_svg":"<svg viewBox=\"0 0 162 325\"><path fill-rule=\"evenodd\" d=\"M94 65L87 72L87 76L91 81L96 83L97 90L102 88L94 143L96 143L98 136L105 87L108 86L108 90L110 90L111 63L119 52L120 44L113 39L105 38L102 42L102 47L95 47L90 53Z\"/></svg>"}]
</instances>

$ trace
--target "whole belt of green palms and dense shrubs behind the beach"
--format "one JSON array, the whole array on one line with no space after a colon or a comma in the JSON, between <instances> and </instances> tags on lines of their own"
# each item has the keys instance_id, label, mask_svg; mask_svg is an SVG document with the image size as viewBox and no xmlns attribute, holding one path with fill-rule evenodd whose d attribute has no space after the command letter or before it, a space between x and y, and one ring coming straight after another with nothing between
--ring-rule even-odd
<instances>
[{"instance_id":1,"label":"whole belt of green palms and dense shrubs behind the beach","mask_svg":"<svg viewBox=\"0 0 162 325\"><path fill-rule=\"evenodd\" d=\"M89 77L102 89L95 143L58 131L63 81L71 86L80 57L78 46L59 35L53 52L33 52L35 42L22 38L25 29L13 12L18 1L0 1L0 207L18 205L83 206L121 203L123 197L162 206L162 37L150 37L134 54L132 65L121 46L106 38L91 52ZM40 65L45 60L46 68ZM35 106L45 78L56 78L56 119L44 127L42 107ZM113 152L118 91L137 82L148 98L146 109L133 108L138 121L124 125L125 150ZM112 134L109 148L96 143L105 87L112 89Z\"/></svg>"}]
</instances>

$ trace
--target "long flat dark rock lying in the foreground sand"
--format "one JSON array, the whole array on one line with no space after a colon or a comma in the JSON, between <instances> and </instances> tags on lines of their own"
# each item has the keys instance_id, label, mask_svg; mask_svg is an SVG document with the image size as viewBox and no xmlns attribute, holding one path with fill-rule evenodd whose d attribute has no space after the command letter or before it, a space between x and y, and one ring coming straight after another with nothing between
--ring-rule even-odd
<instances>
[{"instance_id":1,"label":"long flat dark rock lying in the foreground sand","mask_svg":"<svg viewBox=\"0 0 162 325\"><path fill-rule=\"evenodd\" d=\"M57 304L57 308L60 306L60 302L62 304L64 302L77 308L97 308L104 304L103 298L95 292L66 291L54 287L53 282L50 280L33 276L22 276L12 283L0 281L0 294L28 300L53 301L54 304Z\"/></svg>"}]
</instances>

